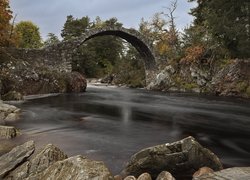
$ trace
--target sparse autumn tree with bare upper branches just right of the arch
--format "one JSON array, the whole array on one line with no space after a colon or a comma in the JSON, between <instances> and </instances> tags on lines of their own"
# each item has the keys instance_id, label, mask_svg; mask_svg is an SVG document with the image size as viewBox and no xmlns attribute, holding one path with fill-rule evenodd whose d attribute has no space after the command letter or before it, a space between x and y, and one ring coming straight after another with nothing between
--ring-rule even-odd
<instances>
[{"instance_id":1,"label":"sparse autumn tree with bare upper branches just right of the arch","mask_svg":"<svg viewBox=\"0 0 250 180\"><path fill-rule=\"evenodd\" d=\"M142 19L139 25L139 31L153 40L156 52L164 60L163 64L167 59L178 59L180 56L180 38L174 17L176 8L177 1L173 1L166 8L167 12L156 13L149 22Z\"/></svg>"}]
</instances>

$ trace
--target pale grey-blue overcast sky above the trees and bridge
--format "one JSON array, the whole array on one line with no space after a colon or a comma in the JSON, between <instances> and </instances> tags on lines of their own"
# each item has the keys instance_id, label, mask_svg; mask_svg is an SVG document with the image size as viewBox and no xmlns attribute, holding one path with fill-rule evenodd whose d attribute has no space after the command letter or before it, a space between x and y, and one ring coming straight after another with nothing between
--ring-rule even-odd
<instances>
[{"instance_id":1,"label":"pale grey-blue overcast sky above the trees and bridge","mask_svg":"<svg viewBox=\"0 0 250 180\"><path fill-rule=\"evenodd\" d=\"M166 11L170 0L10 0L13 14L17 14L16 22L30 20L40 27L43 38L48 33L60 36L67 15L76 18L89 16L102 20L116 17L127 28L138 28L141 18L149 20L153 14ZM188 15L194 4L187 0L178 0L175 12L176 24L183 29L191 23Z\"/></svg>"}]
</instances>

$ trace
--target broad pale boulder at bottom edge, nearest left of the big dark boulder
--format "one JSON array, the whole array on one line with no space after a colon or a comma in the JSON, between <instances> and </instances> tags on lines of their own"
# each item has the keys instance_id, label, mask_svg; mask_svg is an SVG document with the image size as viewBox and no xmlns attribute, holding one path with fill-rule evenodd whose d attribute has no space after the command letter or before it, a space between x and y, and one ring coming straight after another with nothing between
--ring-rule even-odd
<instances>
[{"instance_id":1,"label":"broad pale boulder at bottom edge, nearest left of the big dark boulder","mask_svg":"<svg viewBox=\"0 0 250 180\"><path fill-rule=\"evenodd\" d=\"M43 173L28 178L28 180L31 179L112 180L114 178L103 162L92 161L82 156L74 156L54 163Z\"/></svg>"}]
</instances>

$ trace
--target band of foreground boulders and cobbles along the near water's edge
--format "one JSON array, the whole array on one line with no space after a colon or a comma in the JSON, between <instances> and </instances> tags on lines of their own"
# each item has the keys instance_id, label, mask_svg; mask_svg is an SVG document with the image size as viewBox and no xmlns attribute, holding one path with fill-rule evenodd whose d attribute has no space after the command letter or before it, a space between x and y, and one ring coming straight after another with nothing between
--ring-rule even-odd
<instances>
[{"instance_id":1,"label":"band of foreground boulders and cobbles along the near water's edge","mask_svg":"<svg viewBox=\"0 0 250 180\"><path fill-rule=\"evenodd\" d=\"M0 179L8 180L192 178L195 180L211 178L240 180L249 177L250 168L248 167L222 170L218 157L203 148L193 137L143 149L131 157L121 174L115 176L104 162L94 161L82 155L68 157L53 144L36 149L34 141L28 141L0 157Z\"/></svg>"}]
</instances>

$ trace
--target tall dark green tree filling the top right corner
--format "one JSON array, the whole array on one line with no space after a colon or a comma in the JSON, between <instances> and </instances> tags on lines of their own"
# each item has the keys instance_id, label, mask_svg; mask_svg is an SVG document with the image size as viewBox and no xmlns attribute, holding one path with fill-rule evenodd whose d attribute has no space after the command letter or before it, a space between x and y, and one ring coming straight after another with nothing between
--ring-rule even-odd
<instances>
[{"instance_id":1,"label":"tall dark green tree filling the top right corner","mask_svg":"<svg viewBox=\"0 0 250 180\"><path fill-rule=\"evenodd\" d=\"M250 57L250 3L248 0L189 0L198 6L192 9L194 27L207 30L214 41L224 46L231 57Z\"/></svg>"}]
</instances>

